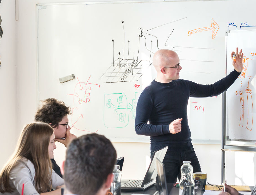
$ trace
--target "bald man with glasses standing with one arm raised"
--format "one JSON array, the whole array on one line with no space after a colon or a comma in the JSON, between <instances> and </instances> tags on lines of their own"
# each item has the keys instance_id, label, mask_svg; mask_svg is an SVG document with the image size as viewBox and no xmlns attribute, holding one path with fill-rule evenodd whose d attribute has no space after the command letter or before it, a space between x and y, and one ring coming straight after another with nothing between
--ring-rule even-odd
<instances>
[{"instance_id":1,"label":"bald man with glasses standing with one arm raised","mask_svg":"<svg viewBox=\"0 0 256 195\"><path fill-rule=\"evenodd\" d=\"M200 85L179 79L182 67L176 52L162 49L153 56L157 78L139 97L135 130L139 135L150 136L151 157L155 151L168 146L163 160L168 183L176 183L177 177L180 179L180 168L184 160L191 161L194 172L201 172L190 138L188 98L212 97L226 91L242 72L242 59L242 50L238 53L236 48L236 62L232 60L235 70L214 84Z\"/></svg>"}]
</instances>

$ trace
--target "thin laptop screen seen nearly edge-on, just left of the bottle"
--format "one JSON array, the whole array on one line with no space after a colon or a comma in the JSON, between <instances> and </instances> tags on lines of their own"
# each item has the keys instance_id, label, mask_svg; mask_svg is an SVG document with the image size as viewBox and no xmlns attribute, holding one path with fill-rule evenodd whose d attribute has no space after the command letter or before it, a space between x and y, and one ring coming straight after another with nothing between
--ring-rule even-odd
<instances>
[{"instance_id":1,"label":"thin laptop screen seen nearly edge-on, just left of the bottle","mask_svg":"<svg viewBox=\"0 0 256 195\"><path fill-rule=\"evenodd\" d=\"M164 164L158 158L156 159L156 164L157 164L157 179L158 179L160 194L168 195Z\"/></svg>"}]
</instances>

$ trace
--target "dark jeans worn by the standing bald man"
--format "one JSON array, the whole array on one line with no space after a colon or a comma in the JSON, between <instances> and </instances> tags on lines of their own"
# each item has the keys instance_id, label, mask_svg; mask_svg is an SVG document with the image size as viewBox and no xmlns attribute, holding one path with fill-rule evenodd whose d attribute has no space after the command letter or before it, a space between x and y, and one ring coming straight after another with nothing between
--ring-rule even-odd
<instances>
[{"instance_id":1,"label":"dark jeans worn by the standing bald man","mask_svg":"<svg viewBox=\"0 0 256 195\"><path fill-rule=\"evenodd\" d=\"M153 151L151 151L151 158ZM189 150L167 151L163 159L167 183L176 183L176 179L181 179L181 165L184 160L191 161L193 173L201 172L201 166L197 159L194 148Z\"/></svg>"}]
</instances>

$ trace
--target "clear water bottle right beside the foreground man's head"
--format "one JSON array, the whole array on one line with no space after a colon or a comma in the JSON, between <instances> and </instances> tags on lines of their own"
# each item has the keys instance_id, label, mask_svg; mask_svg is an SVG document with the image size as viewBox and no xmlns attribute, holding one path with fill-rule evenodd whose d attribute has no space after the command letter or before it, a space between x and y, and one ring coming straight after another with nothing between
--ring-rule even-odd
<instances>
[{"instance_id":1,"label":"clear water bottle right beside the foreground man's head","mask_svg":"<svg viewBox=\"0 0 256 195\"><path fill-rule=\"evenodd\" d=\"M120 169L119 165L114 166L114 170L113 170L114 179L110 187L110 191L113 195L121 195L122 172L119 169Z\"/></svg>"}]
</instances>

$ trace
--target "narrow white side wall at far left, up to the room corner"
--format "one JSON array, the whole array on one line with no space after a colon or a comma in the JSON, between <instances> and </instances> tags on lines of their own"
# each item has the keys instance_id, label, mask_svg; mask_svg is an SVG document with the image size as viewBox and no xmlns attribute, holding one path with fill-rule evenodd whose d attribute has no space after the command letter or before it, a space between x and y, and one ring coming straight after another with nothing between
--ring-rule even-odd
<instances>
[{"instance_id":1,"label":"narrow white side wall at far left, up to the room corner","mask_svg":"<svg viewBox=\"0 0 256 195\"><path fill-rule=\"evenodd\" d=\"M0 4L3 37L0 39L0 167L7 161L16 146L17 94L15 50L15 1L3 0Z\"/></svg>"}]
</instances>

